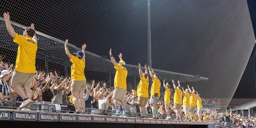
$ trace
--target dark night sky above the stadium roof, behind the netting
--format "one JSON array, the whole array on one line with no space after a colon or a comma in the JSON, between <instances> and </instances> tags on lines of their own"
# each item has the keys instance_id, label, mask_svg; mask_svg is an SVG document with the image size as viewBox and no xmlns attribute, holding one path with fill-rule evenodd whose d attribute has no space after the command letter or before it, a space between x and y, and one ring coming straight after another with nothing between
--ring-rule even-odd
<instances>
[{"instance_id":1,"label":"dark night sky above the stadium roof, behind the netting","mask_svg":"<svg viewBox=\"0 0 256 128\"><path fill-rule=\"evenodd\" d=\"M147 63L146 5L28 0L2 2L0 10L18 24L33 22L37 31L77 47L86 42L86 50L100 56L112 48L127 64L138 65ZM236 92L234 98L256 98L255 9L254 0L151 0L152 68L209 78L192 83L203 97L231 99Z\"/></svg>"}]
</instances>

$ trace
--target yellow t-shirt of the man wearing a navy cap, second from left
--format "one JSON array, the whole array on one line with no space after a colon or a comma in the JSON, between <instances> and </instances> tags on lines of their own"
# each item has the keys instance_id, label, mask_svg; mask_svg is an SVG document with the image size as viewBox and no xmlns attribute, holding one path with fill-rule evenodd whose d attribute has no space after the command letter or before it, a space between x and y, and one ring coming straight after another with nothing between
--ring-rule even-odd
<instances>
[{"instance_id":1,"label":"yellow t-shirt of the man wearing a navy cap, second from left","mask_svg":"<svg viewBox=\"0 0 256 128\"><path fill-rule=\"evenodd\" d=\"M71 80L86 80L84 76L85 60L72 55L70 61L73 63L71 66Z\"/></svg>"}]
</instances>

